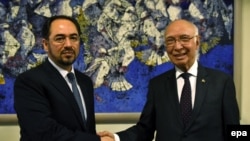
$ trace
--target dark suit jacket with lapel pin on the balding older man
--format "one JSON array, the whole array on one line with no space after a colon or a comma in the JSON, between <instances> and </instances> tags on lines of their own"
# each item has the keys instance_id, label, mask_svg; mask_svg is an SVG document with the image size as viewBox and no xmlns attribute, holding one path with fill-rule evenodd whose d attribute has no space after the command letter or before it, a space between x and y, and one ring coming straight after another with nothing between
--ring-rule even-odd
<instances>
[{"instance_id":1,"label":"dark suit jacket with lapel pin on the balding older man","mask_svg":"<svg viewBox=\"0 0 250 141\"><path fill-rule=\"evenodd\" d=\"M223 141L225 127L239 124L232 78L199 64L192 119L181 120L175 70L149 82L146 104L137 125L119 132L121 141Z\"/></svg>"}]
</instances>

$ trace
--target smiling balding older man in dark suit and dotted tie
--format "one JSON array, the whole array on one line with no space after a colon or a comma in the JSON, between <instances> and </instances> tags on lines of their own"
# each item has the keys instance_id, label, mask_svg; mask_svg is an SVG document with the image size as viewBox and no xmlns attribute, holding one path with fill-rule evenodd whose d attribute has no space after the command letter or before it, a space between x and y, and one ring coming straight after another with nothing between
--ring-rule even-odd
<instances>
[{"instance_id":1,"label":"smiling balding older man in dark suit and dotted tie","mask_svg":"<svg viewBox=\"0 0 250 141\"><path fill-rule=\"evenodd\" d=\"M226 126L239 124L233 79L198 63L200 36L193 23L170 23L165 30L165 44L175 67L150 80L137 124L117 134L98 134L115 137L116 141L152 141L154 133L156 141L224 141ZM191 93L189 102L181 106L183 73L189 75L191 87L187 91L191 89ZM188 108L188 104L190 110L184 113L182 107Z\"/></svg>"}]
</instances>

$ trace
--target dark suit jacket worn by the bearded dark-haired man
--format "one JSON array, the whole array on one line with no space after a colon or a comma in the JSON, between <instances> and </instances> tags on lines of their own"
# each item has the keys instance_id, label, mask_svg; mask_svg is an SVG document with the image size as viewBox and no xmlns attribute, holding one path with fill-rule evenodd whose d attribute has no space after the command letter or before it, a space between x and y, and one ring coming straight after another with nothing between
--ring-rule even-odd
<instances>
[{"instance_id":1,"label":"dark suit jacket worn by the bearded dark-haired man","mask_svg":"<svg viewBox=\"0 0 250 141\"><path fill-rule=\"evenodd\" d=\"M75 70L84 95L87 122L61 74L48 60L20 74L14 85L14 108L21 141L100 141L96 135L93 84Z\"/></svg>"}]
</instances>

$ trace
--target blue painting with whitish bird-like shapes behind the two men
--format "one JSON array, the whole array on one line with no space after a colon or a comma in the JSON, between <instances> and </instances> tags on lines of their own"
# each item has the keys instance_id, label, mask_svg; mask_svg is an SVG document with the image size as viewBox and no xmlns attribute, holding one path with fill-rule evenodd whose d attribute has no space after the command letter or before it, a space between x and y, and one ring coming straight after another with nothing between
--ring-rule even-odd
<instances>
[{"instance_id":1,"label":"blue painting with whitish bird-like shapes behind the two men","mask_svg":"<svg viewBox=\"0 0 250 141\"><path fill-rule=\"evenodd\" d=\"M198 26L202 64L233 75L233 13L233 0L0 0L0 113L15 113L16 76L46 58L48 17L78 20L74 66L93 80L96 112L113 113L140 112L149 79L173 67L163 32L176 19Z\"/></svg>"}]
</instances>

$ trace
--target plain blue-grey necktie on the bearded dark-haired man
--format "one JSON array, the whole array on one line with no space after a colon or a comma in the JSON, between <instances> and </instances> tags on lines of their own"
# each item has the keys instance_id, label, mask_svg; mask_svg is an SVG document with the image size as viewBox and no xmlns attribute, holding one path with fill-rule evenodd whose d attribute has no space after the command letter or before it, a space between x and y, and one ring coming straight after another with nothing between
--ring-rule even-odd
<instances>
[{"instance_id":1,"label":"plain blue-grey necktie on the bearded dark-haired man","mask_svg":"<svg viewBox=\"0 0 250 141\"><path fill-rule=\"evenodd\" d=\"M83 104L82 104L80 93L79 93L78 88L77 88L75 75L72 72L70 72L70 73L68 73L67 77L68 77L68 79L69 79L69 81L70 81L70 83L72 85L72 90L73 90L74 97L76 99L78 107L80 108L82 119L85 122L85 114L84 114Z\"/></svg>"}]
</instances>

